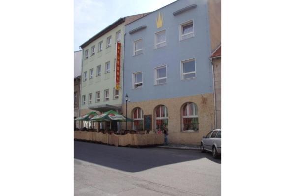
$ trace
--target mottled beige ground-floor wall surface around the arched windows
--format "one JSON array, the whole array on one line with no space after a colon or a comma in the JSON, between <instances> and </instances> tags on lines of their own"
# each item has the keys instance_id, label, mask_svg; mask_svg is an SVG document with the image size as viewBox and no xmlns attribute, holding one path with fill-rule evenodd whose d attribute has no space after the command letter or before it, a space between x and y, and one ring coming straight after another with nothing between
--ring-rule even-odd
<instances>
[{"instance_id":1,"label":"mottled beige ground-floor wall surface around the arched windows","mask_svg":"<svg viewBox=\"0 0 295 196\"><path fill-rule=\"evenodd\" d=\"M181 107L186 102L193 102L198 107L199 131L182 132L181 131ZM213 94L203 94L187 96L180 98L168 98L159 100L150 100L143 102L128 102L127 115L132 118L132 111L136 107L142 108L144 115L152 115L152 130L155 131L155 108L158 105L165 105L168 109L168 129L169 143L174 144L200 144L202 137L210 130L214 129L214 98ZM123 105L124 115L126 105ZM132 122L127 123L127 128L131 128ZM125 123L122 123L125 127Z\"/></svg>"}]
</instances>

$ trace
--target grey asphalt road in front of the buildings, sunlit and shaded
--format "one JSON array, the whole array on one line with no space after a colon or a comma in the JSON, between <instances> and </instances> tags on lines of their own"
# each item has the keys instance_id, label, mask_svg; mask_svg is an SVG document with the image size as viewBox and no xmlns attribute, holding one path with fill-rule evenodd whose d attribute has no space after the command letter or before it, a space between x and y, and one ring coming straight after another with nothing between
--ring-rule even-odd
<instances>
[{"instance_id":1,"label":"grey asphalt road in front of the buildings, sunlit and shaded","mask_svg":"<svg viewBox=\"0 0 295 196\"><path fill-rule=\"evenodd\" d=\"M221 160L195 150L74 142L75 196L220 196Z\"/></svg>"}]
</instances>

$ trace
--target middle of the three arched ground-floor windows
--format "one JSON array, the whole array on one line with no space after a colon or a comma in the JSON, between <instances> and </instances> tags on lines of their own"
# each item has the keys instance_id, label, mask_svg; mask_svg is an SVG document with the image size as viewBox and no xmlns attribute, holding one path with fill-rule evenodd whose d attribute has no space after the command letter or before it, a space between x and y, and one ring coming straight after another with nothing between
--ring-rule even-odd
<instances>
[{"instance_id":1,"label":"middle of the three arched ground-floor windows","mask_svg":"<svg viewBox=\"0 0 295 196\"><path fill-rule=\"evenodd\" d=\"M156 107L156 131L168 131L168 110L165 105L159 105Z\"/></svg>"}]
</instances>

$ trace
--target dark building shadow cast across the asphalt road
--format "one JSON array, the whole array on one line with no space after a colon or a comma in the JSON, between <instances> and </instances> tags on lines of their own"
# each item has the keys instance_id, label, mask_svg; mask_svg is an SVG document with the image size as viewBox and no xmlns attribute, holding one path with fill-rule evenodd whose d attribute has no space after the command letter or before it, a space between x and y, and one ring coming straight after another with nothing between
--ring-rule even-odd
<instances>
[{"instance_id":1,"label":"dark building shadow cast across the asphalt road","mask_svg":"<svg viewBox=\"0 0 295 196\"><path fill-rule=\"evenodd\" d=\"M196 150L115 147L74 141L74 158L126 172L140 172L154 167L206 158L221 164L210 153Z\"/></svg>"}]
</instances>

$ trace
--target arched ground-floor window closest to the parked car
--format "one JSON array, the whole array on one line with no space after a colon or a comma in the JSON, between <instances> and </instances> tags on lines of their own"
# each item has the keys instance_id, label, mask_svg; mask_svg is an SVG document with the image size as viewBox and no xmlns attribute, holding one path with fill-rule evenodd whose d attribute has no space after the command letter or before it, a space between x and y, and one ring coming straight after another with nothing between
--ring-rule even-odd
<instances>
[{"instance_id":1,"label":"arched ground-floor window closest to the parked car","mask_svg":"<svg viewBox=\"0 0 295 196\"><path fill-rule=\"evenodd\" d=\"M198 108L195 103L188 102L182 107L182 131L198 131Z\"/></svg>"}]
</instances>

